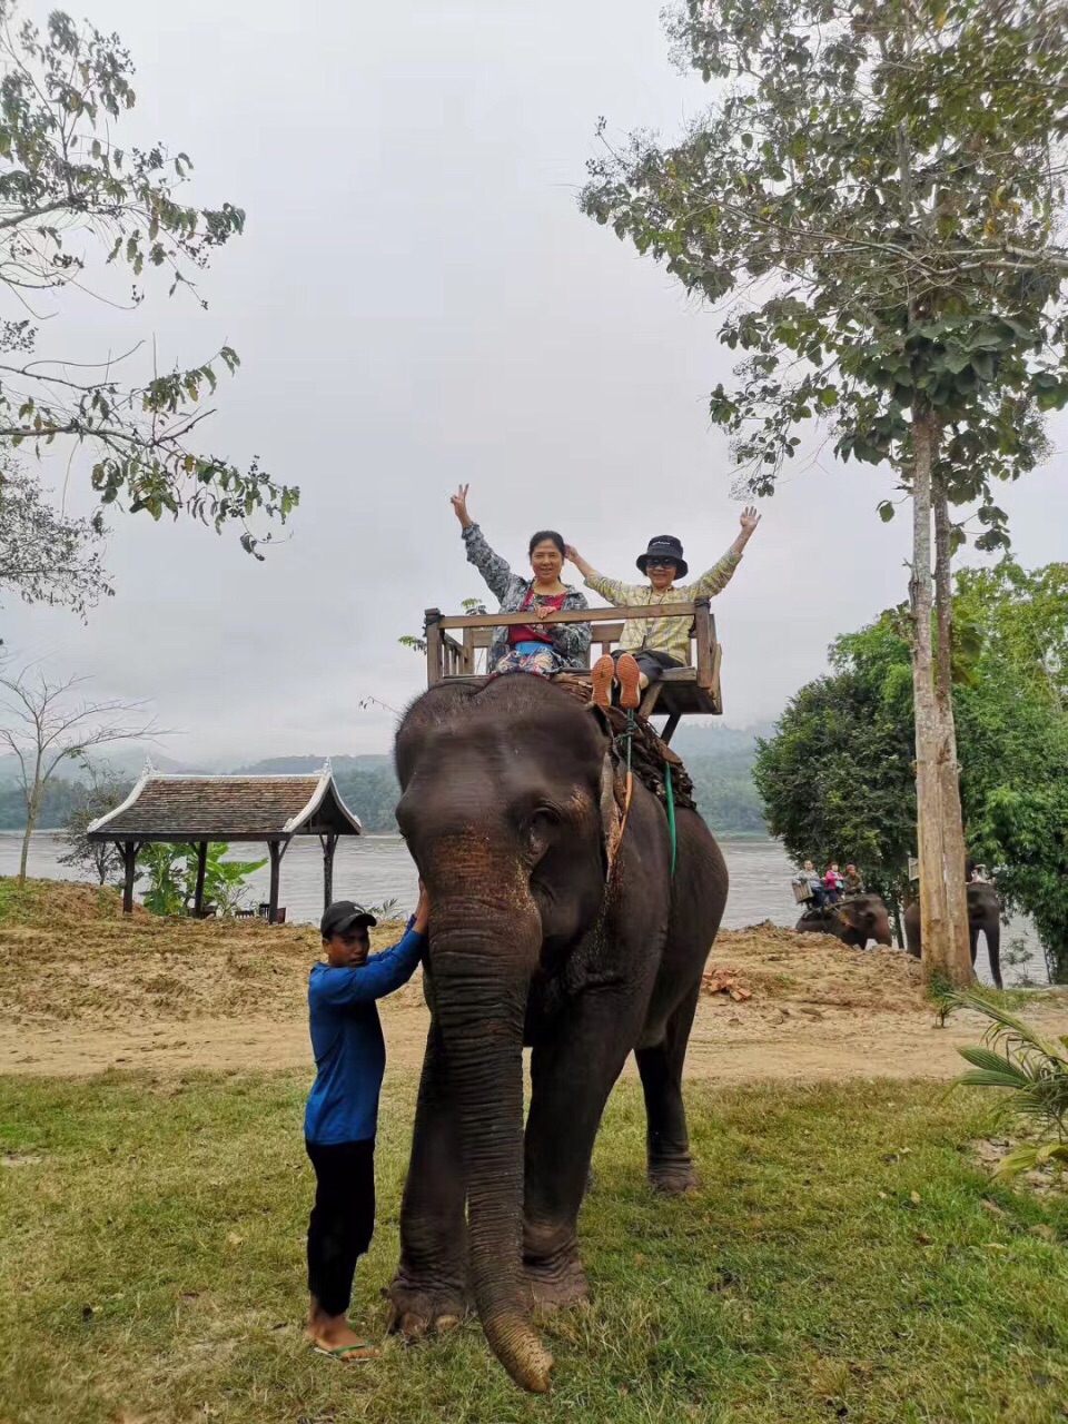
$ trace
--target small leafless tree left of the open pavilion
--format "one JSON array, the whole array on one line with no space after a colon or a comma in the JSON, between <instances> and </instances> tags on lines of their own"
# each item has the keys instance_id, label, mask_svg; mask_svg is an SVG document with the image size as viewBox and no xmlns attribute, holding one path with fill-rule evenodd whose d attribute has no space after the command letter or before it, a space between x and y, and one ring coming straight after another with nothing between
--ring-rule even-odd
<instances>
[{"instance_id":1,"label":"small leafless tree left of the open pavilion","mask_svg":"<svg viewBox=\"0 0 1068 1424\"><path fill-rule=\"evenodd\" d=\"M137 740L157 732L155 719L141 719L141 702L85 702L78 692L85 678L51 682L40 669L0 676L0 745L16 760L16 778L26 805L26 829L19 859L19 883L26 881L30 837L41 795L60 763L78 759L93 746Z\"/></svg>"}]
</instances>

